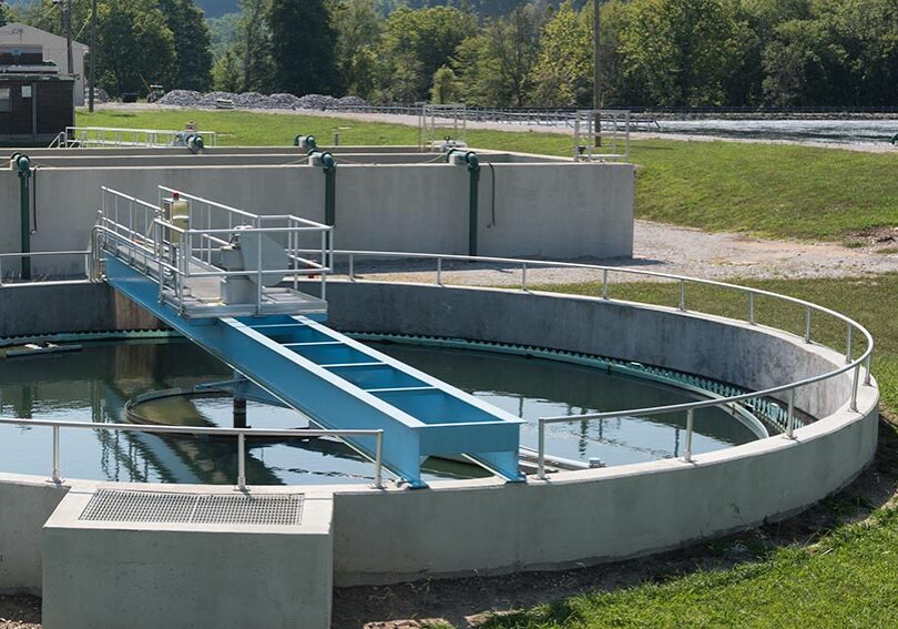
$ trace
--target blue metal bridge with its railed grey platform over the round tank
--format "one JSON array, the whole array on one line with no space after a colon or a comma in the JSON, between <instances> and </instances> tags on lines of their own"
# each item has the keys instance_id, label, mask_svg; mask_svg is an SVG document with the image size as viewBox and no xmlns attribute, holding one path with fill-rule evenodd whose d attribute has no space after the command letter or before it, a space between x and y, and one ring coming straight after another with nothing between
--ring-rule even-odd
<instances>
[{"instance_id":1,"label":"blue metal bridge with its railed grey platform over the round tank","mask_svg":"<svg viewBox=\"0 0 898 629\"><path fill-rule=\"evenodd\" d=\"M382 430L384 466L412 487L425 485L429 456L523 479L518 417L324 325L331 227L165 187L155 204L110 189L102 199L93 243L102 277L233 367L235 393L273 398L326 429ZM374 437L345 440L377 456Z\"/></svg>"}]
</instances>

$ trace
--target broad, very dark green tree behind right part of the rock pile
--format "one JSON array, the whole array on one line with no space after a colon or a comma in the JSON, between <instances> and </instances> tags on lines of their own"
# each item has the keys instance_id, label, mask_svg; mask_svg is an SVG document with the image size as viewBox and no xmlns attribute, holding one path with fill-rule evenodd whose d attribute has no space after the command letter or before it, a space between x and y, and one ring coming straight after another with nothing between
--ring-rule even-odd
<instances>
[{"instance_id":1,"label":"broad, very dark green tree behind right part of the rock pile","mask_svg":"<svg viewBox=\"0 0 898 629\"><path fill-rule=\"evenodd\" d=\"M324 0L272 0L266 21L278 90L297 95L340 92L337 32Z\"/></svg>"}]
</instances>

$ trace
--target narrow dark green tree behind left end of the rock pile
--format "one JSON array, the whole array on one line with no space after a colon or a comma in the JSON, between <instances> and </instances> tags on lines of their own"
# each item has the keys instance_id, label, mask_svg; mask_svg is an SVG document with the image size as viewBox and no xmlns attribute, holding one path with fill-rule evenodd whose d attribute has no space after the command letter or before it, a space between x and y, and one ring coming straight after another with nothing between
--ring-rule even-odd
<instances>
[{"instance_id":1,"label":"narrow dark green tree behind left end of the rock pile","mask_svg":"<svg viewBox=\"0 0 898 629\"><path fill-rule=\"evenodd\" d=\"M175 41L174 87L207 91L212 87L212 40L193 0L160 0Z\"/></svg>"}]
</instances>

